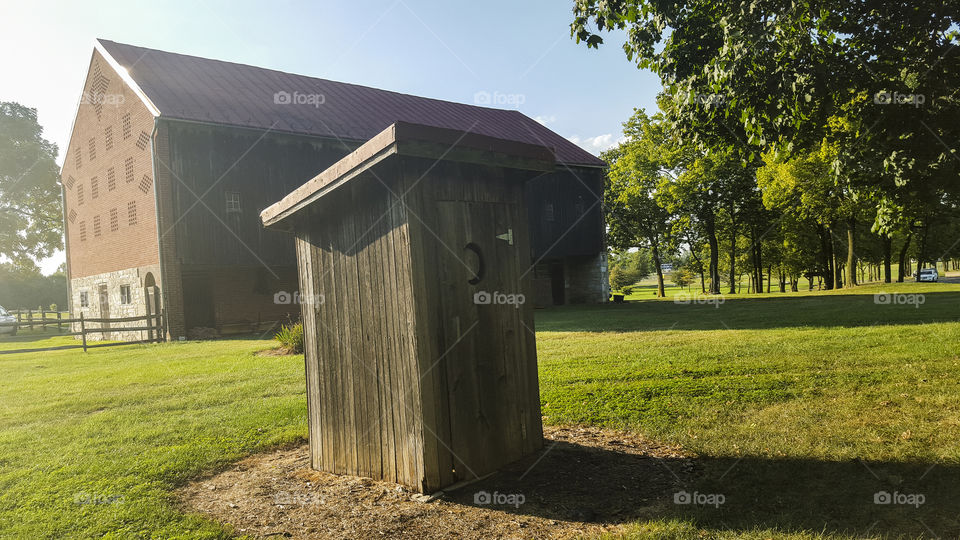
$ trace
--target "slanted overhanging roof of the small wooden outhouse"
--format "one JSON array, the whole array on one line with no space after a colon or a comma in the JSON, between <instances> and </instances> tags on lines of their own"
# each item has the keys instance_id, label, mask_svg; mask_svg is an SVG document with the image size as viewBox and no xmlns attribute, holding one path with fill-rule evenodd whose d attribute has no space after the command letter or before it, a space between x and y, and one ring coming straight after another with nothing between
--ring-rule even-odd
<instances>
[{"instance_id":1,"label":"slanted overhanging roof of the small wooden outhouse","mask_svg":"<svg viewBox=\"0 0 960 540\"><path fill-rule=\"evenodd\" d=\"M464 131L397 122L260 213L265 227L288 229L290 217L333 193L390 156L459 161L536 172L556 168L553 152L537 146Z\"/></svg>"}]
</instances>

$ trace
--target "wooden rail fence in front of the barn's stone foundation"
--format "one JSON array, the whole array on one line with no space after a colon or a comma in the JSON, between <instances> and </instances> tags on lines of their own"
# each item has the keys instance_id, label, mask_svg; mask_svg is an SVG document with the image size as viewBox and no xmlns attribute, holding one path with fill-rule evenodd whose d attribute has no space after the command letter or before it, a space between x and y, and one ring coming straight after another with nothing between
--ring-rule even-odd
<instances>
[{"instance_id":1,"label":"wooden rail fence in front of the barn's stone foundation","mask_svg":"<svg viewBox=\"0 0 960 540\"><path fill-rule=\"evenodd\" d=\"M32 311L32 310L18 310L9 312L11 315L17 316L17 322L11 323L0 323L0 327L10 327L15 326L19 330L20 328L30 328L31 330L35 327L40 327L46 329L48 326L56 326L57 330L60 332L61 336L80 336L81 344L77 345L76 348L83 348L83 352L87 352L87 349L91 347L110 347L114 345L128 345L131 343L160 343L166 341L166 310L161 310L157 314L147 314L140 315L135 317L117 317L113 319L100 319L100 318L86 318L83 316L83 313L80 314L79 318L64 318L64 312L54 312L54 311ZM40 315L40 318L37 319L34 315ZM26 317L24 317L26 315ZM51 315L48 317L48 315ZM55 315L55 316L54 316ZM113 326L115 323L132 323L132 322L141 322L145 324L142 326ZM64 332L63 328L66 325L71 330L72 324L79 324L80 331L74 332ZM95 324L97 326L88 326L90 324ZM116 343L98 343L96 345L90 345L87 343L88 334L109 334L112 332L147 332L147 339L141 339L136 341L121 341ZM57 347L58 349L72 348L72 347Z\"/></svg>"}]
</instances>

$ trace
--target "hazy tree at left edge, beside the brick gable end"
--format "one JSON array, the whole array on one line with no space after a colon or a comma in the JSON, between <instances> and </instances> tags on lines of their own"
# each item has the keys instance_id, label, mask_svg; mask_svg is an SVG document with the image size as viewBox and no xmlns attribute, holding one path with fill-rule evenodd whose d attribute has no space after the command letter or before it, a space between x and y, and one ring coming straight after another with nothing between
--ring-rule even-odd
<instances>
[{"instance_id":1,"label":"hazy tree at left edge, beside the brick gable end","mask_svg":"<svg viewBox=\"0 0 960 540\"><path fill-rule=\"evenodd\" d=\"M0 255L23 267L62 247L57 147L36 109L0 102Z\"/></svg>"}]
</instances>

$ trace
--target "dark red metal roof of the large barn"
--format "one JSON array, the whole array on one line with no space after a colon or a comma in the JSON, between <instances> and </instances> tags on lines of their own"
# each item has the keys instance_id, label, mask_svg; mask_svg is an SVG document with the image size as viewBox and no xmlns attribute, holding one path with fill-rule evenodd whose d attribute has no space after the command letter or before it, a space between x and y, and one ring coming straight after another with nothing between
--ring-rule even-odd
<instances>
[{"instance_id":1,"label":"dark red metal roof of the large barn","mask_svg":"<svg viewBox=\"0 0 960 540\"><path fill-rule=\"evenodd\" d=\"M366 141L396 122L453 129L550 148L560 163L603 161L516 110L400 94L104 39L164 118Z\"/></svg>"}]
</instances>

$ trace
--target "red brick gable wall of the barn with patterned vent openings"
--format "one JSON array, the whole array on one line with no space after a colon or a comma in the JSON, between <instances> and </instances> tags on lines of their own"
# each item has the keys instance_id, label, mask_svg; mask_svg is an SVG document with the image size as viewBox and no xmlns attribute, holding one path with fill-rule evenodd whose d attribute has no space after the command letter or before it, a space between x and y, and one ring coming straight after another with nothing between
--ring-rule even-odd
<instances>
[{"instance_id":1,"label":"red brick gable wall of the barn with patterned vent openings","mask_svg":"<svg viewBox=\"0 0 960 540\"><path fill-rule=\"evenodd\" d=\"M61 175L71 278L158 262L152 130L150 111L94 51Z\"/></svg>"}]
</instances>

